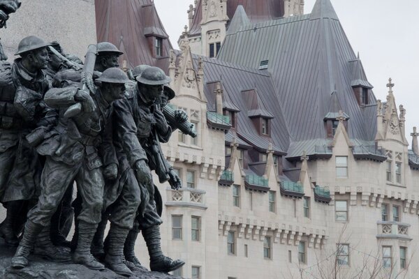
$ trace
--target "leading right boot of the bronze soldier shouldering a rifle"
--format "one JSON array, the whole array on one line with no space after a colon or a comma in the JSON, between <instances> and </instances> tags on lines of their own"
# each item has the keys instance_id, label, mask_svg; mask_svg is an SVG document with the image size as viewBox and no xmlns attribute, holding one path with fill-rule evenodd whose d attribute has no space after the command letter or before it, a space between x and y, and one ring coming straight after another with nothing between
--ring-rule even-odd
<instances>
[{"instance_id":1,"label":"leading right boot of the bronze soldier shouldering a rifle","mask_svg":"<svg viewBox=\"0 0 419 279\"><path fill-rule=\"evenodd\" d=\"M98 262L90 253L91 240L96 232L96 224L89 224L83 221L78 223L78 240L77 248L73 254L73 262L75 264L83 264L89 269L103 270L105 266Z\"/></svg>"}]
</instances>

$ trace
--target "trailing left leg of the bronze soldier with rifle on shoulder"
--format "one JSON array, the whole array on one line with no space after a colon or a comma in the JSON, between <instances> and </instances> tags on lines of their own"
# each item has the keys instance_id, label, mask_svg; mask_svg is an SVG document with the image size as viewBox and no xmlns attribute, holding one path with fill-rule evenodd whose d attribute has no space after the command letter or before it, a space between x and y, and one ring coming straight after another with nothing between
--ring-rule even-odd
<instances>
[{"instance_id":1,"label":"trailing left leg of the bronze soldier with rifle on shoulder","mask_svg":"<svg viewBox=\"0 0 419 279\"><path fill-rule=\"evenodd\" d=\"M29 264L29 253L32 246L34 246L36 237L43 228L50 225L51 217L57 210L57 206L66 192L68 181L73 181L78 168L79 166L71 167L47 157L41 176L41 195L39 196L38 204L28 213L22 240L12 259L14 268L21 269ZM49 229L44 229L44 232L46 235L45 242L49 242ZM38 239L38 242L40 241L40 244L42 244L42 239Z\"/></svg>"}]
</instances>

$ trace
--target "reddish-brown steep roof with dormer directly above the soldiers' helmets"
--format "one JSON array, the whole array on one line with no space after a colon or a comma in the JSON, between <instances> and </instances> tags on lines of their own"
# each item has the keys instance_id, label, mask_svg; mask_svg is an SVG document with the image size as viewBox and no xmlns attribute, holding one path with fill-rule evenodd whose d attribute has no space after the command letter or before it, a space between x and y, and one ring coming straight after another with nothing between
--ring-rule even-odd
<instances>
[{"instance_id":1,"label":"reddish-brown steep roof with dormer directly above the soldiers' helmets","mask_svg":"<svg viewBox=\"0 0 419 279\"><path fill-rule=\"evenodd\" d=\"M96 0L96 33L98 42L108 41L124 52L122 60L134 68L140 64L165 68L172 49L152 0ZM152 55L147 36L163 39L163 59ZM163 61L164 62L163 62ZM166 66L167 67L167 66Z\"/></svg>"}]
</instances>

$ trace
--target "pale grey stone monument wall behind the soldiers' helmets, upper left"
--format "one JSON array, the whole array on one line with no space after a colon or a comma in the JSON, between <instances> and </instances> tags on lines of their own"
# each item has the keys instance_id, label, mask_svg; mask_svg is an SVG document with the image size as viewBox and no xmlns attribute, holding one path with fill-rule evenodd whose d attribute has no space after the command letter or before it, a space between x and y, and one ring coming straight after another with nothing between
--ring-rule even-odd
<instances>
[{"instance_id":1,"label":"pale grey stone monument wall behind the soldiers' helmets, upper left","mask_svg":"<svg viewBox=\"0 0 419 279\"><path fill-rule=\"evenodd\" d=\"M0 38L10 61L20 40L30 35L57 40L66 52L83 58L87 46L96 43L94 0L22 0L7 27Z\"/></svg>"}]
</instances>

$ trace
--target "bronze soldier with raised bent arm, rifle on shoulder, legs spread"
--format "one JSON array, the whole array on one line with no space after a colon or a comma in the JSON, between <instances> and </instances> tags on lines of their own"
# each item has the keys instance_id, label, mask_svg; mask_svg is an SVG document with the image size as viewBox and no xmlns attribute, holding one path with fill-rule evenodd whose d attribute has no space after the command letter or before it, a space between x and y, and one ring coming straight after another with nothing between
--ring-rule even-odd
<instances>
[{"instance_id":1,"label":"bronze soldier with raised bent arm, rifle on shoulder, legs spread","mask_svg":"<svg viewBox=\"0 0 419 279\"><path fill-rule=\"evenodd\" d=\"M103 163L97 148L109 121L111 103L124 96L128 78L122 70L109 68L98 82L101 86L96 86L92 95L75 86L50 89L45 94L45 103L60 110L59 123L37 148L38 153L46 156L41 195L38 204L28 213L22 240L12 259L13 268L21 269L29 264L28 257L36 236L49 225L68 183L73 181L77 183L83 204L78 215L78 246L73 253L73 262L89 269L105 268L90 253L91 239L101 220L103 205ZM71 118L64 116L67 108L75 103L82 104L82 112ZM115 156L115 151L103 152Z\"/></svg>"}]
</instances>

